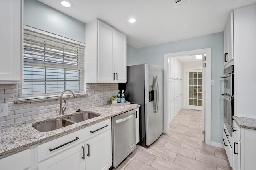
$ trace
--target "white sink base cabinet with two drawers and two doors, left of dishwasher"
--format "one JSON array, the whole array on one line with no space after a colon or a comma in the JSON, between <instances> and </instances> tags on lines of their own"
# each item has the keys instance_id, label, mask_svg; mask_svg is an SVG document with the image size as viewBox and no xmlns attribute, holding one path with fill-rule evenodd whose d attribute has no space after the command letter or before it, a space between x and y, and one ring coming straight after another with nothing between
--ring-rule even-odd
<instances>
[{"instance_id":1,"label":"white sink base cabinet with two drawers and two doors, left of dishwasher","mask_svg":"<svg viewBox=\"0 0 256 170\"><path fill-rule=\"evenodd\" d=\"M38 170L106 170L112 166L111 134L108 119L38 145Z\"/></svg>"}]
</instances>

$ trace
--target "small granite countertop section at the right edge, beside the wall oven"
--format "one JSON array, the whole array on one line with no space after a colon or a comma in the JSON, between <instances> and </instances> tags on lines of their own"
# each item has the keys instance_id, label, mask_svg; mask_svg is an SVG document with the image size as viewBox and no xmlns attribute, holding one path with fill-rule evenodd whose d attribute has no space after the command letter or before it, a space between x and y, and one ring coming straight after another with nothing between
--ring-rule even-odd
<instances>
[{"instance_id":1,"label":"small granite countertop section at the right edge, beside the wall oven","mask_svg":"<svg viewBox=\"0 0 256 170\"><path fill-rule=\"evenodd\" d=\"M233 116L239 127L256 130L256 119Z\"/></svg>"}]
</instances>

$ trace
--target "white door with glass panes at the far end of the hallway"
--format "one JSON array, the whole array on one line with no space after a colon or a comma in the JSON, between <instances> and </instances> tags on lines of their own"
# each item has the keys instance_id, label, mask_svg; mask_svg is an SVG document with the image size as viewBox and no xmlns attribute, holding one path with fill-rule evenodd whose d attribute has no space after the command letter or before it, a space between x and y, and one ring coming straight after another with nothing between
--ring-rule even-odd
<instances>
[{"instance_id":1,"label":"white door with glass panes at the far end of the hallway","mask_svg":"<svg viewBox=\"0 0 256 170\"><path fill-rule=\"evenodd\" d=\"M186 108L202 110L202 69L186 70Z\"/></svg>"}]
</instances>

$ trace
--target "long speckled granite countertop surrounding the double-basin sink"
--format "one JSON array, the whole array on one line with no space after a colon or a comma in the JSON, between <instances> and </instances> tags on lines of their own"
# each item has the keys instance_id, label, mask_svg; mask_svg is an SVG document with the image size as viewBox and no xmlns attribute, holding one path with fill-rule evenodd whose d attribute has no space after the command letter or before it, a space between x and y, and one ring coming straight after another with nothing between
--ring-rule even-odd
<instances>
[{"instance_id":1,"label":"long speckled granite countertop surrounding the double-basin sink","mask_svg":"<svg viewBox=\"0 0 256 170\"><path fill-rule=\"evenodd\" d=\"M90 111L96 113L100 116L94 117L92 119L88 119L86 121L81 121L78 123L74 123L72 125L62 127L60 129L56 129L49 132L39 132L34 127L34 124L42 123L54 119L58 119L61 117L68 117L70 115L79 114L82 112L69 112L65 113L64 115L50 115L46 117L41 117L37 119L30 119L27 121L22 121L18 123L13 123L10 125L4 125L0 127L0 158L6 154L10 154L19 150L23 150L28 148L32 145L41 143L43 141L47 141L50 139L54 139L58 136L65 135L72 131L76 131L82 129L84 127L90 126L94 123L104 121L110 117L115 115L119 115L126 111L136 109L140 107L138 104L130 104L124 106L109 106L109 105L102 105L91 107L82 110Z\"/></svg>"}]
</instances>

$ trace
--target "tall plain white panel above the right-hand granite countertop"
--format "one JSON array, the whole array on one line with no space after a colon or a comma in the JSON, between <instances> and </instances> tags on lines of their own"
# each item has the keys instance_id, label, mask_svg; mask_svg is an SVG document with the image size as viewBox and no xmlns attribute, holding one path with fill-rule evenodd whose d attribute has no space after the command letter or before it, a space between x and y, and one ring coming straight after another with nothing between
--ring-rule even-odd
<instances>
[{"instance_id":1,"label":"tall plain white panel above the right-hand granite countertop","mask_svg":"<svg viewBox=\"0 0 256 170\"><path fill-rule=\"evenodd\" d=\"M256 3L234 10L234 115L256 118Z\"/></svg>"}]
</instances>

